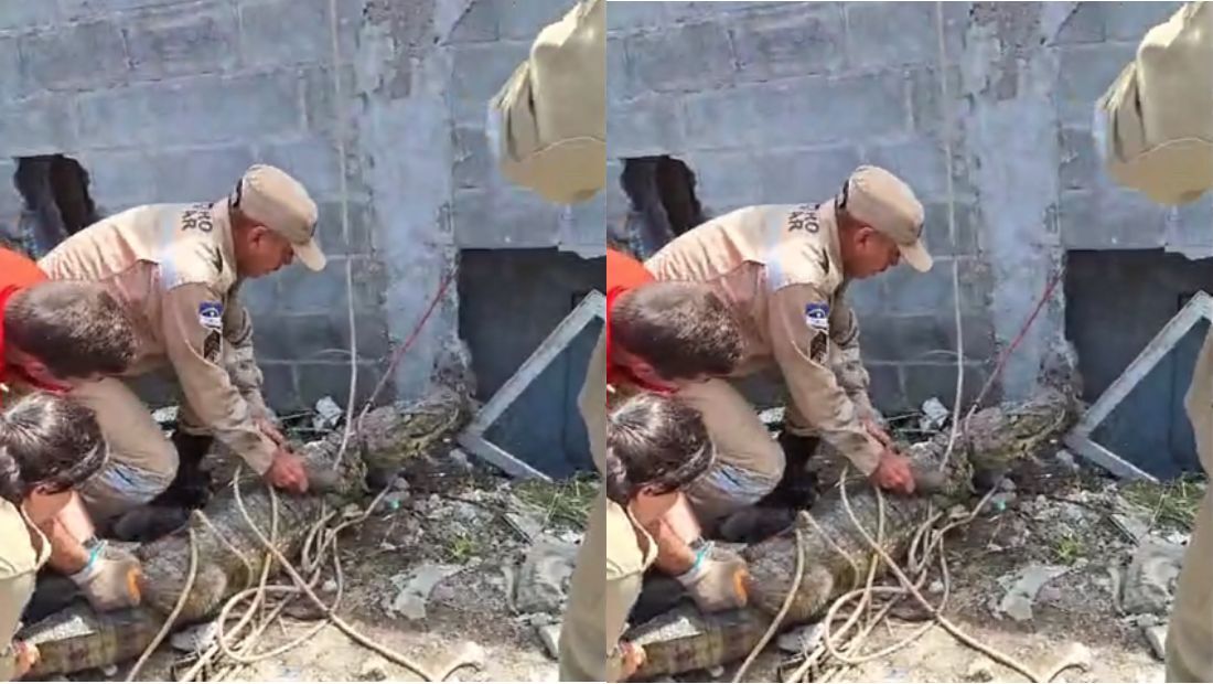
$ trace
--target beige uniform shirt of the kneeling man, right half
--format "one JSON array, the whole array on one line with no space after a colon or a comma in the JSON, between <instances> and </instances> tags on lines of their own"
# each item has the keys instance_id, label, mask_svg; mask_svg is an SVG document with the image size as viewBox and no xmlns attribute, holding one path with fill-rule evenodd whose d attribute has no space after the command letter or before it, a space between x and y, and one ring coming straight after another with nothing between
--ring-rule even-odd
<instances>
[{"instance_id":1,"label":"beige uniform shirt of the kneeling man, right half","mask_svg":"<svg viewBox=\"0 0 1213 684\"><path fill-rule=\"evenodd\" d=\"M734 375L778 366L798 420L865 474L876 469L881 446L861 423L872 411L869 378L832 203L740 209L679 235L644 266L659 280L711 285L742 329Z\"/></svg>"}]
</instances>

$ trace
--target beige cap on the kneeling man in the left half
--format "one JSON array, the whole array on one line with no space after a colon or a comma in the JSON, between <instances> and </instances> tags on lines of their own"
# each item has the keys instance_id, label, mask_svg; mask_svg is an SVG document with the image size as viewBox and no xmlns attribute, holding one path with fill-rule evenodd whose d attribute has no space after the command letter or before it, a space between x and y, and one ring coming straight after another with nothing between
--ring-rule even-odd
<instances>
[{"instance_id":1,"label":"beige cap on the kneeling man in the left half","mask_svg":"<svg viewBox=\"0 0 1213 684\"><path fill-rule=\"evenodd\" d=\"M328 260L315 244L315 203L289 173L266 164L250 166L235 187L232 206L290 240L303 266L324 269Z\"/></svg>"}]
</instances>

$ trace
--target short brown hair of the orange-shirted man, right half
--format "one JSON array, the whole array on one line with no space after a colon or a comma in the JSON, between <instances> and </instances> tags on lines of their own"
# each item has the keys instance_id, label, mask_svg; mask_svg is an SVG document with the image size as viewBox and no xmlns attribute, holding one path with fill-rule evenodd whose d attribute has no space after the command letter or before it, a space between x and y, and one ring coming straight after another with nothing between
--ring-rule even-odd
<instances>
[{"instance_id":1,"label":"short brown hair of the orange-shirted man, right half","mask_svg":"<svg viewBox=\"0 0 1213 684\"><path fill-rule=\"evenodd\" d=\"M666 380L729 375L741 360L733 312L700 283L650 283L620 295L610 332Z\"/></svg>"}]
</instances>

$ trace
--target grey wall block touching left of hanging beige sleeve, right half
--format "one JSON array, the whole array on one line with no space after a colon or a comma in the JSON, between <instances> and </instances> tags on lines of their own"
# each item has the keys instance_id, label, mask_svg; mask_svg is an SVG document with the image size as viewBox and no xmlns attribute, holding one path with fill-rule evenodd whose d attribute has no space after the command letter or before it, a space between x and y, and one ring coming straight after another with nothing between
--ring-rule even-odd
<instances>
[{"instance_id":1,"label":"grey wall block touching left of hanging beige sleeve, right half","mask_svg":"<svg viewBox=\"0 0 1213 684\"><path fill-rule=\"evenodd\" d=\"M1057 103L1063 124L1090 125L1095 102L1137 53L1137 44L1061 47Z\"/></svg>"}]
</instances>

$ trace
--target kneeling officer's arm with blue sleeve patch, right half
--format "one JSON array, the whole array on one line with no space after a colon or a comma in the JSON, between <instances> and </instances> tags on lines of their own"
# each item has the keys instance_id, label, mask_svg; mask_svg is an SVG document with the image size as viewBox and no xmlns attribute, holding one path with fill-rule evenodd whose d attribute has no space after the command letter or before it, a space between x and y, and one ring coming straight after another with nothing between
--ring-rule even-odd
<instances>
[{"instance_id":1,"label":"kneeling officer's arm with blue sleeve patch, right half","mask_svg":"<svg viewBox=\"0 0 1213 684\"><path fill-rule=\"evenodd\" d=\"M855 403L828 366L828 302L830 297L811 285L773 292L768 312L771 348L804 420L869 475L881 462L882 448L864 428Z\"/></svg>"}]
</instances>

